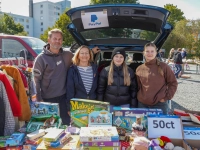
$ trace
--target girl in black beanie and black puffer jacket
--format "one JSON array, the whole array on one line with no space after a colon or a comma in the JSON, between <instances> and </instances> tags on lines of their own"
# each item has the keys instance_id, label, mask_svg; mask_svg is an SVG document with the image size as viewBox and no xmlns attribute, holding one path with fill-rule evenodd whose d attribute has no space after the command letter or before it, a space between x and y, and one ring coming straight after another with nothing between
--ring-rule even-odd
<instances>
[{"instance_id":1,"label":"girl in black beanie and black puffer jacket","mask_svg":"<svg viewBox=\"0 0 200 150\"><path fill-rule=\"evenodd\" d=\"M137 107L137 84L133 70L126 65L124 48L117 47L112 52L110 66L104 68L99 77L97 99L113 106Z\"/></svg>"}]
</instances>

